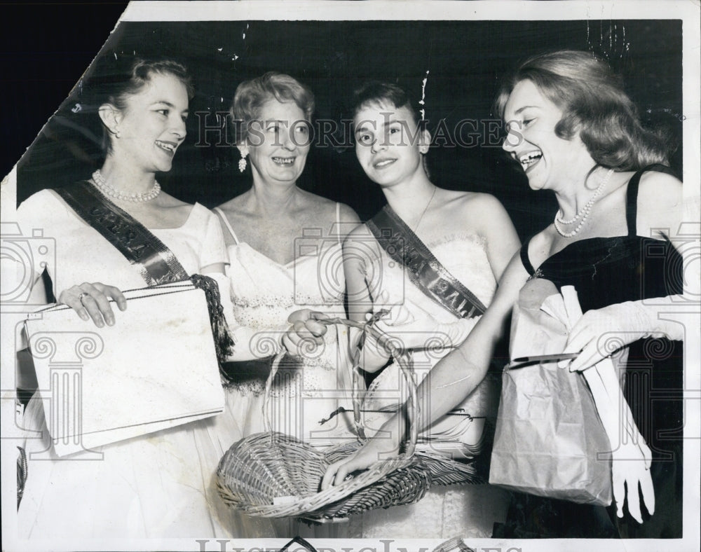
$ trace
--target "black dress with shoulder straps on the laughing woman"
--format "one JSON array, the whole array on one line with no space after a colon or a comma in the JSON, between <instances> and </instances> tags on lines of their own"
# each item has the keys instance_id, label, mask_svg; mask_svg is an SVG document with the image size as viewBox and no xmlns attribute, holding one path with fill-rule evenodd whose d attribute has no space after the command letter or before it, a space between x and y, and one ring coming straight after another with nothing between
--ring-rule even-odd
<instances>
[{"instance_id":1,"label":"black dress with shoulder straps on the laughing woman","mask_svg":"<svg viewBox=\"0 0 701 552\"><path fill-rule=\"evenodd\" d=\"M628 234L593 237L569 244L534 269L526 241L521 249L531 278L552 281L558 289L574 286L583 312L614 303L681 294L682 258L668 240L636 235L637 195L646 170L668 172L652 165L634 174L626 191ZM670 173L671 174L671 173ZM624 394L635 422L653 453L655 514L641 498L644 523L624 509L616 517L608 508L515 494L504 525L495 537L516 538L681 538L683 351L682 343L661 338L638 340L629 346Z\"/></svg>"}]
</instances>

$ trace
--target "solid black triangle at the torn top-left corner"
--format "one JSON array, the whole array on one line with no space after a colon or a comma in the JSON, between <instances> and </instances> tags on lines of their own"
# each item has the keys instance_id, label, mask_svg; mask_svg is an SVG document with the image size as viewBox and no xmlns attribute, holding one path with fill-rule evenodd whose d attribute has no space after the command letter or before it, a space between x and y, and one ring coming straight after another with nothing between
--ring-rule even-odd
<instances>
[{"instance_id":1,"label":"solid black triangle at the torn top-left corner","mask_svg":"<svg viewBox=\"0 0 701 552\"><path fill-rule=\"evenodd\" d=\"M128 2L0 3L0 175L32 144Z\"/></svg>"}]
</instances>

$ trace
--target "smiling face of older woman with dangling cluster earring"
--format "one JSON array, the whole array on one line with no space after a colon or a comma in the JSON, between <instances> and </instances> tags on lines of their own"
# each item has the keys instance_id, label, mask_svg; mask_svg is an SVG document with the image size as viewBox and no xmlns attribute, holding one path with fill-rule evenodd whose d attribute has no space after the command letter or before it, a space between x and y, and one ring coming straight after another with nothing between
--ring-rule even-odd
<instances>
[{"instance_id":1,"label":"smiling face of older woman with dangling cluster earring","mask_svg":"<svg viewBox=\"0 0 701 552\"><path fill-rule=\"evenodd\" d=\"M252 121L242 153L247 151L254 179L294 184L309 153L309 127L304 111L294 102L270 99Z\"/></svg>"}]
</instances>

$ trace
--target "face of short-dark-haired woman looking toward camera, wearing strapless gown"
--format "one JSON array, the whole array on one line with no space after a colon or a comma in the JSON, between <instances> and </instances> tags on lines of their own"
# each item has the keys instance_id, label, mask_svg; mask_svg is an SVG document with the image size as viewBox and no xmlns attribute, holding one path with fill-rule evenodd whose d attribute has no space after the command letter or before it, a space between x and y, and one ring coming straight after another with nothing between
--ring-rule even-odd
<instances>
[{"instance_id":1,"label":"face of short-dark-haired woman looking toward camera, wearing strapless gown","mask_svg":"<svg viewBox=\"0 0 701 552\"><path fill-rule=\"evenodd\" d=\"M409 108L389 102L364 104L353 118L355 155L372 181L393 186L426 177L421 163L428 150L428 132L418 132Z\"/></svg>"}]
</instances>

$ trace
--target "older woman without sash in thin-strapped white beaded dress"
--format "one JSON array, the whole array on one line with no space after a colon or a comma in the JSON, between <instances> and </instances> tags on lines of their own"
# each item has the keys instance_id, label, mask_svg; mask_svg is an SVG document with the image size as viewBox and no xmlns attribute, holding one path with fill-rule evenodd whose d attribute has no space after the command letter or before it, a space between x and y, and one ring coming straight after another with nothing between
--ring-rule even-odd
<instances>
[{"instance_id":1,"label":"older woman without sash in thin-strapped white beaded dress","mask_svg":"<svg viewBox=\"0 0 701 552\"><path fill-rule=\"evenodd\" d=\"M271 355L294 329L288 317L305 309L345 317L341 243L359 221L350 207L297 187L313 107L311 90L275 73L241 83L233 99L239 167L250 165L253 185L215 210L225 228L236 319L227 400L246 436L266 429L262 394ZM329 329L323 343L306 335L303 329L290 334L294 343L285 339L290 354L273 383L269 416L275 431L326 446L351 424L345 416L331 429L319 423L350 406L348 336L340 327Z\"/></svg>"}]
</instances>

